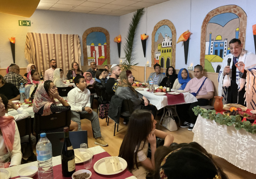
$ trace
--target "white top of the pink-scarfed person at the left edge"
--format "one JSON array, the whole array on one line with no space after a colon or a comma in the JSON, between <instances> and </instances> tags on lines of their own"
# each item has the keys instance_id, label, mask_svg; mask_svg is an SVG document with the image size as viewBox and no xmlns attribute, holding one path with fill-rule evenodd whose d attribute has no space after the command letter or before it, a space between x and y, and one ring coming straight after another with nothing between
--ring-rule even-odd
<instances>
[{"instance_id":1,"label":"white top of the pink-scarfed person at the left edge","mask_svg":"<svg viewBox=\"0 0 256 179\"><path fill-rule=\"evenodd\" d=\"M4 144L3 136L0 135L0 158L2 158L6 154L6 145ZM18 127L15 122L15 134L14 134L14 142L13 142L13 151L11 152L11 164L20 165L22 154L20 147L20 133L18 132Z\"/></svg>"}]
</instances>

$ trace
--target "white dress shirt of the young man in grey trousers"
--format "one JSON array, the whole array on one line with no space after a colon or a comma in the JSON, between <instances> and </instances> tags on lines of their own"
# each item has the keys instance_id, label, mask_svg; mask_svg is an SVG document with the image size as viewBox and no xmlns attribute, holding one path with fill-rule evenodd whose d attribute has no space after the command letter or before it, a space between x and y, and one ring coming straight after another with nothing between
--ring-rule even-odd
<instances>
[{"instance_id":1,"label":"white dress shirt of the young man in grey trousers","mask_svg":"<svg viewBox=\"0 0 256 179\"><path fill-rule=\"evenodd\" d=\"M68 92L68 102L70 103L71 110L75 112L82 112L82 107L91 107L90 91L85 88L81 91L78 87L71 89Z\"/></svg>"}]
</instances>

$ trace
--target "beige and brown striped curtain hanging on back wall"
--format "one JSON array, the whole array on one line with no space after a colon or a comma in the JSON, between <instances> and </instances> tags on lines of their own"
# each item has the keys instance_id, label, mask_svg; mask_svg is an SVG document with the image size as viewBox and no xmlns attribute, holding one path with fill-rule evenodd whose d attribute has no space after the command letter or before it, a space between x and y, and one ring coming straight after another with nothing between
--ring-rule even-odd
<instances>
[{"instance_id":1,"label":"beige and brown striped curtain hanging on back wall","mask_svg":"<svg viewBox=\"0 0 256 179\"><path fill-rule=\"evenodd\" d=\"M38 71L50 68L50 60L55 59L57 68L64 71L64 76L71 69L72 62L79 66L81 58L78 35L27 33L25 58L36 65Z\"/></svg>"}]
</instances>

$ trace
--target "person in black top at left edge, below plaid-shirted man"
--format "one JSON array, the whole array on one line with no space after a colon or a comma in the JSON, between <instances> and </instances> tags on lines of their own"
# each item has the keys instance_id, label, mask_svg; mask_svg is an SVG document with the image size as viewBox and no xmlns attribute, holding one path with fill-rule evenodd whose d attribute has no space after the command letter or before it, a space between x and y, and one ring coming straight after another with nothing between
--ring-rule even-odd
<instances>
[{"instance_id":1,"label":"person in black top at left edge, below plaid-shirted man","mask_svg":"<svg viewBox=\"0 0 256 179\"><path fill-rule=\"evenodd\" d=\"M4 77L0 75L0 94L7 97L9 101L20 100L20 92L12 83L6 83Z\"/></svg>"}]
</instances>

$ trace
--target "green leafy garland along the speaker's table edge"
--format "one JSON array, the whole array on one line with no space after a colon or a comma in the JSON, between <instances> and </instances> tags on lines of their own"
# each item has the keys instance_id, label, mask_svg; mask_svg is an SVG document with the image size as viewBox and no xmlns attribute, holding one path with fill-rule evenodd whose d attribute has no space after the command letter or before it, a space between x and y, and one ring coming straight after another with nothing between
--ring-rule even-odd
<instances>
[{"instance_id":1,"label":"green leafy garland along the speaker's table edge","mask_svg":"<svg viewBox=\"0 0 256 179\"><path fill-rule=\"evenodd\" d=\"M234 124L236 130L243 128L249 133L256 133L256 125L252 125L249 121L242 122L240 115L228 116L222 115L221 113L216 114L216 110L206 110L200 108L200 106L196 106L192 110L196 116L201 115L205 119L215 120L215 122L218 122L220 125L225 124L226 126L232 126Z\"/></svg>"}]
</instances>

